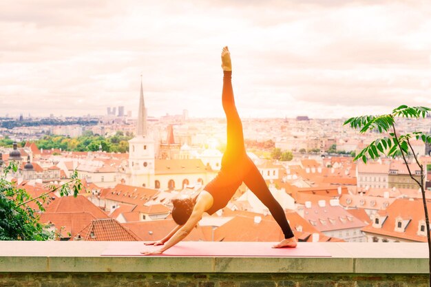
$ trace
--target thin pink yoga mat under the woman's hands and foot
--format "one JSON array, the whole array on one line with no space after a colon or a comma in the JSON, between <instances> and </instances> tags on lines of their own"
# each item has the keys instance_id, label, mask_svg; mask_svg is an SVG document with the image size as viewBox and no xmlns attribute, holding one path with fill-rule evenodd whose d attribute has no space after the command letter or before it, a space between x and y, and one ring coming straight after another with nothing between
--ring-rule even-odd
<instances>
[{"instance_id":1,"label":"thin pink yoga mat under the woman's hands and foot","mask_svg":"<svg viewBox=\"0 0 431 287\"><path fill-rule=\"evenodd\" d=\"M330 257L318 243L300 242L296 248L271 248L275 242L180 242L162 255L193 257ZM148 256L141 251L154 251L160 246L143 242L112 242L101 256Z\"/></svg>"}]
</instances>

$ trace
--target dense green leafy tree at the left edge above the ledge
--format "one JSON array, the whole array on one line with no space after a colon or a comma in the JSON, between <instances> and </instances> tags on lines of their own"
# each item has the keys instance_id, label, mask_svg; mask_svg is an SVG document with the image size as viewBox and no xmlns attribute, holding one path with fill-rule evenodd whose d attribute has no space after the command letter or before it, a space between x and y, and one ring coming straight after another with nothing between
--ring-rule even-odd
<instances>
[{"instance_id":1,"label":"dense green leafy tree at the left edge above the ledge","mask_svg":"<svg viewBox=\"0 0 431 287\"><path fill-rule=\"evenodd\" d=\"M76 171L72 179L59 187L51 186L49 191L37 198L31 198L25 189L18 189L14 182L6 180L8 173L18 171L16 164L9 164L3 168L0 176L0 240L52 240L54 233L47 230L45 224L39 222L39 214L27 204L36 202L40 211L45 211L43 202L54 191L60 191L60 195L73 193L74 197L81 190L81 180ZM72 184L72 185L70 185Z\"/></svg>"}]
</instances>

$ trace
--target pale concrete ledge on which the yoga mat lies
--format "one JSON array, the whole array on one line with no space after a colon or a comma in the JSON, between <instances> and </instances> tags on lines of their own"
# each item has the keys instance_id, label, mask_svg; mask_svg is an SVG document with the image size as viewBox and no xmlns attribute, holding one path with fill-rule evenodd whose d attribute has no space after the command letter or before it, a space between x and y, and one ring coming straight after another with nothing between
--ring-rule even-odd
<instances>
[{"instance_id":1,"label":"pale concrete ledge on which the yoga mat lies","mask_svg":"<svg viewBox=\"0 0 431 287\"><path fill-rule=\"evenodd\" d=\"M425 243L300 243L332 257L101 257L108 244L0 241L0 273L429 273Z\"/></svg>"}]
</instances>

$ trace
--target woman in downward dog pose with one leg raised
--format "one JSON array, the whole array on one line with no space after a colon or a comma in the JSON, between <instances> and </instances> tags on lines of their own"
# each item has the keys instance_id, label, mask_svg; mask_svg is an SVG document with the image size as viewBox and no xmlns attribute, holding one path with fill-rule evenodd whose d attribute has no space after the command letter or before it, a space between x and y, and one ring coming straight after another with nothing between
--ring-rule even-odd
<instances>
[{"instance_id":1,"label":"woman in downward dog pose with one leg raised","mask_svg":"<svg viewBox=\"0 0 431 287\"><path fill-rule=\"evenodd\" d=\"M183 240L198 224L204 212L210 215L227 205L235 191L244 182L273 215L284 233L284 240L273 248L296 247L297 241L289 226L282 206L275 200L259 170L246 155L242 123L233 100L231 83L232 65L228 47L222 50L223 90L222 104L227 118L227 147L222 157L222 167L199 195L192 199L173 200L172 217L178 224L174 230L157 242L146 245L163 245L158 251L143 251L145 255L158 255Z\"/></svg>"}]
</instances>

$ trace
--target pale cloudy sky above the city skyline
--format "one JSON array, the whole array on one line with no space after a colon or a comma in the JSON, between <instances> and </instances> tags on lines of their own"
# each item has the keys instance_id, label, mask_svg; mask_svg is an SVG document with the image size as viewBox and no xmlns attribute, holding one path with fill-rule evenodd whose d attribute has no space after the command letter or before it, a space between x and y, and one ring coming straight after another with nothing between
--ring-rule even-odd
<instances>
[{"instance_id":1,"label":"pale cloudy sky above the city skyline","mask_svg":"<svg viewBox=\"0 0 431 287\"><path fill-rule=\"evenodd\" d=\"M246 118L431 107L431 1L0 1L0 116ZM118 108L117 108L118 109Z\"/></svg>"}]
</instances>

